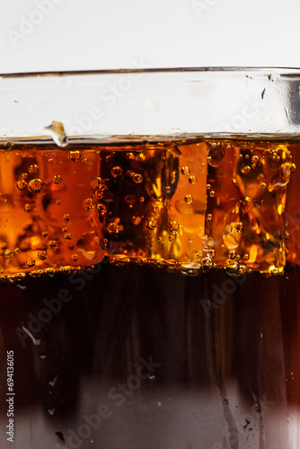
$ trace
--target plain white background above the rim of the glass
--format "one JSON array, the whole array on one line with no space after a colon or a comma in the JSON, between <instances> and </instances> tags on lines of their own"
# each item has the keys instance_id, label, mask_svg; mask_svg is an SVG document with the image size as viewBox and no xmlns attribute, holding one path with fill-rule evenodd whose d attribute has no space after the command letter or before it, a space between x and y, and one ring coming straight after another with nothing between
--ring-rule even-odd
<instances>
[{"instance_id":1,"label":"plain white background above the rim of the glass","mask_svg":"<svg viewBox=\"0 0 300 449\"><path fill-rule=\"evenodd\" d=\"M300 0L0 0L0 73L300 66L299 19Z\"/></svg>"}]
</instances>

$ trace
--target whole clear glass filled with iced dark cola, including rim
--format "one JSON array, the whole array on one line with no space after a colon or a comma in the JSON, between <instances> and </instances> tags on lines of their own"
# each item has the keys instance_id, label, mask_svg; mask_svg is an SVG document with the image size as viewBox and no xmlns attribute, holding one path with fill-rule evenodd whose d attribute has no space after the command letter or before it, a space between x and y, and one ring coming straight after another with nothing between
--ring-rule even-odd
<instances>
[{"instance_id":1,"label":"whole clear glass filled with iced dark cola, including rim","mask_svg":"<svg viewBox=\"0 0 300 449\"><path fill-rule=\"evenodd\" d=\"M0 81L1 447L298 449L300 69Z\"/></svg>"}]
</instances>

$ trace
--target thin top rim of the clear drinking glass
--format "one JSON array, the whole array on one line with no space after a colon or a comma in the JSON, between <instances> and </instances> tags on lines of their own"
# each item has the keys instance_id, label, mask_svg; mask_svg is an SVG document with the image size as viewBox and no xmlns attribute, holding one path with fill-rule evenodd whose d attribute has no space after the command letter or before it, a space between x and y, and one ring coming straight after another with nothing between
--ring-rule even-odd
<instances>
[{"instance_id":1,"label":"thin top rim of the clear drinking glass","mask_svg":"<svg viewBox=\"0 0 300 449\"><path fill-rule=\"evenodd\" d=\"M234 73L245 75L284 75L300 76L300 67L278 67L278 66L190 66L190 67L149 67L149 68L114 68L114 69L89 69L89 70L58 70L40 72L15 72L0 74L0 78L22 78L30 76L71 76L71 75L121 75L138 73Z\"/></svg>"}]
</instances>

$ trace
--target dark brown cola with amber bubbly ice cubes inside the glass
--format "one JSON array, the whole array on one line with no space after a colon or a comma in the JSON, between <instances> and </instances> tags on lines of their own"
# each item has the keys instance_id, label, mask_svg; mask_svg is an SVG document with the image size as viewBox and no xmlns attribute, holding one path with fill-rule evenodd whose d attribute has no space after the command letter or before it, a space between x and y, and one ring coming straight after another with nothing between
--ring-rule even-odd
<instances>
[{"instance_id":1,"label":"dark brown cola with amber bubbly ice cubes inside the glass","mask_svg":"<svg viewBox=\"0 0 300 449\"><path fill-rule=\"evenodd\" d=\"M0 154L1 447L297 449L296 144L26 145Z\"/></svg>"}]
</instances>

